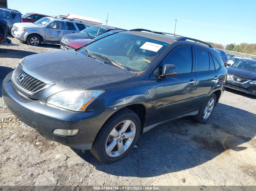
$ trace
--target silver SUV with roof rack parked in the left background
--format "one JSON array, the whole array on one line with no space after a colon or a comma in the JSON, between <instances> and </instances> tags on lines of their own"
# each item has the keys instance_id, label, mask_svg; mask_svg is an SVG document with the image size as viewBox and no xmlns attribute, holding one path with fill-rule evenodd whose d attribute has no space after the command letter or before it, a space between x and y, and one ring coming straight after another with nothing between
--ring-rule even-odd
<instances>
[{"instance_id":1,"label":"silver SUV with roof rack parked in the left background","mask_svg":"<svg viewBox=\"0 0 256 191\"><path fill-rule=\"evenodd\" d=\"M15 23L12 35L19 41L33 46L41 43L60 44L63 35L79 32L81 25L86 28L81 21L44 17L34 23Z\"/></svg>"}]
</instances>

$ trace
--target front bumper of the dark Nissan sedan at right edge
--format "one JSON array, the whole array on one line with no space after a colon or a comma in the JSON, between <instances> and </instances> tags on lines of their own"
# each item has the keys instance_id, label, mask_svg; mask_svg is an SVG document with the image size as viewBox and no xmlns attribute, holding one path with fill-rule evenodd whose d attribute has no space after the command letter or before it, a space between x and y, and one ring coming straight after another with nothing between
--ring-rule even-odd
<instances>
[{"instance_id":1,"label":"front bumper of the dark Nissan sedan at right edge","mask_svg":"<svg viewBox=\"0 0 256 191\"><path fill-rule=\"evenodd\" d=\"M225 84L225 88L231 88L233 90L242 91L247 94L256 95L256 85L250 84L249 82L242 84L231 80L231 78L228 78Z\"/></svg>"}]
</instances>

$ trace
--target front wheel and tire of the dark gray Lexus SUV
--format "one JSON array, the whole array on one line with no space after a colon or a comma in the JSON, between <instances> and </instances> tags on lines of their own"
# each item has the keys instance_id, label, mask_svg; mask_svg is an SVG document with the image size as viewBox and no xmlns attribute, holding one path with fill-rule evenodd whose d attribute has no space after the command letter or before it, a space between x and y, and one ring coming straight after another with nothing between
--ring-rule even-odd
<instances>
[{"instance_id":1,"label":"front wheel and tire of the dark gray Lexus SUV","mask_svg":"<svg viewBox=\"0 0 256 191\"><path fill-rule=\"evenodd\" d=\"M123 108L114 113L98 132L91 154L102 163L124 158L134 147L140 133L140 119L133 111Z\"/></svg>"}]
</instances>

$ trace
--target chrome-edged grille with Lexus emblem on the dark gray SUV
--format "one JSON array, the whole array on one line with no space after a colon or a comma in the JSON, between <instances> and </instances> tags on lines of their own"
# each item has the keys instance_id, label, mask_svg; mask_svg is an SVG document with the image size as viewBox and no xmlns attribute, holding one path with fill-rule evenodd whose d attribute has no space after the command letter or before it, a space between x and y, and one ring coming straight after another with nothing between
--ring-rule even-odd
<instances>
[{"instance_id":1,"label":"chrome-edged grille with Lexus emblem on the dark gray SUV","mask_svg":"<svg viewBox=\"0 0 256 191\"><path fill-rule=\"evenodd\" d=\"M32 76L28 73L29 72L21 64L18 64L12 73L12 83L28 94L33 95L38 91L55 84L45 80L42 81L42 79L39 79L40 77L36 78L34 77L35 75Z\"/></svg>"}]
</instances>

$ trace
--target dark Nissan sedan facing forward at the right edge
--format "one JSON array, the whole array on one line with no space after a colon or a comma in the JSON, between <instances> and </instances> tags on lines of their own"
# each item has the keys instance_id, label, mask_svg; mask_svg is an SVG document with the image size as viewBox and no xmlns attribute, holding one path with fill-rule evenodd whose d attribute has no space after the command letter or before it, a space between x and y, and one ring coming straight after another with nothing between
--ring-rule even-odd
<instances>
[{"instance_id":1,"label":"dark Nissan sedan facing forward at the right edge","mask_svg":"<svg viewBox=\"0 0 256 191\"><path fill-rule=\"evenodd\" d=\"M231 65L225 87L256 96L256 60L242 58Z\"/></svg>"}]
</instances>

